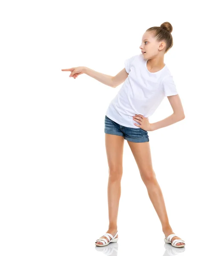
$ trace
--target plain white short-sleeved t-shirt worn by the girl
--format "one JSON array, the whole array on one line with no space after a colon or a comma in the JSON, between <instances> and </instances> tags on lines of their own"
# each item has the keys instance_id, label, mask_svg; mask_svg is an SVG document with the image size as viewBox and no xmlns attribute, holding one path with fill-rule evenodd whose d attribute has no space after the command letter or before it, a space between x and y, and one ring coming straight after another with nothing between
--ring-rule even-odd
<instances>
[{"instance_id":1,"label":"plain white short-sleeved t-shirt worn by the girl","mask_svg":"<svg viewBox=\"0 0 204 256\"><path fill-rule=\"evenodd\" d=\"M142 54L126 59L124 63L129 75L110 102L106 116L120 125L139 128L134 125L139 123L132 116L151 116L165 96L176 95L178 92L166 64L158 72L151 73Z\"/></svg>"}]
</instances>

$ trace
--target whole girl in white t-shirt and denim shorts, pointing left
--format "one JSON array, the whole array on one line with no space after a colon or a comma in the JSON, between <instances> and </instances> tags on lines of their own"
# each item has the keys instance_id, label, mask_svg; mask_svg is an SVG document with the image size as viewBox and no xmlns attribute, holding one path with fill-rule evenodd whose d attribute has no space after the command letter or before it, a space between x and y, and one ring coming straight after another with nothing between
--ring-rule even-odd
<instances>
[{"instance_id":1,"label":"whole girl in white t-shirt and denim shorts, pointing left","mask_svg":"<svg viewBox=\"0 0 204 256\"><path fill-rule=\"evenodd\" d=\"M109 166L109 228L104 236L95 241L96 246L106 246L118 241L117 218L124 140L129 144L149 198L161 221L165 243L174 247L185 246L184 240L176 236L170 226L161 188L152 167L148 136L148 131L155 131L185 118L173 77L164 64L164 54L173 45L171 32L172 25L169 22L147 29L142 37L141 54L127 59L124 69L114 77L87 67L62 70L71 71L70 77L74 79L85 73L114 88L124 82L105 115L105 145ZM148 117L155 112L165 96L168 97L173 114L159 122L149 123Z\"/></svg>"}]
</instances>

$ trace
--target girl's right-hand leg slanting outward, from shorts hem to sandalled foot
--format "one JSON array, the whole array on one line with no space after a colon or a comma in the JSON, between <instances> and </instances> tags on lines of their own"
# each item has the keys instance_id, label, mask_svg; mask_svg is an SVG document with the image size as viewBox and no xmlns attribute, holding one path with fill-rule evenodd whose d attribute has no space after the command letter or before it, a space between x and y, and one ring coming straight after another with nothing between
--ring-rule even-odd
<instances>
[{"instance_id":1,"label":"girl's right-hand leg slanting outward, from shorts hem to sandalled foot","mask_svg":"<svg viewBox=\"0 0 204 256\"><path fill-rule=\"evenodd\" d=\"M169 219L167 216L167 210L164 203L164 197L161 192L161 188L156 180L155 172L152 168L152 159L149 142L144 143L134 143L128 141L132 154L135 158L135 161L138 165L141 178L147 187L147 192L149 198L155 208L155 211L158 214L158 217L161 221L162 231L167 237L170 234L175 234L172 231L172 228L169 224ZM174 239L181 239L178 236L174 236L171 241ZM184 243L178 243L176 245L181 245Z\"/></svg>"}]
</instances>

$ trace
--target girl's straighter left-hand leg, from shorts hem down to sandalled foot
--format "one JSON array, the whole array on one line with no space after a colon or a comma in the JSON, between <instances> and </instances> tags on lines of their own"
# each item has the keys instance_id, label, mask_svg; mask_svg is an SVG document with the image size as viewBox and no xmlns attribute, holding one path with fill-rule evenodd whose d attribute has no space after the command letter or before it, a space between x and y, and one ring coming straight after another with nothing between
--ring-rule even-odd
<instances>
[{"instance_id":1,"label":"girl's straighter left-hand leg, from shorts hem down to sandalled foot","mask_svg":"<svg viewBox=\"0 0 204 256\"><path fill-rule=\"evenodd\" d=\"M105 134L106 154L109 166L108 180L108 209L109 209L109 229L106 233L115 236L118 226L118 208L121 197L121 178L123 174L123 148L124 137L112 134ZM116 236L116 238L118 235ZM101 238L108 239L106 236ZM103 244L97 242L97 244Z\"/></svg>"}]
</instances>

